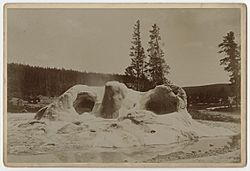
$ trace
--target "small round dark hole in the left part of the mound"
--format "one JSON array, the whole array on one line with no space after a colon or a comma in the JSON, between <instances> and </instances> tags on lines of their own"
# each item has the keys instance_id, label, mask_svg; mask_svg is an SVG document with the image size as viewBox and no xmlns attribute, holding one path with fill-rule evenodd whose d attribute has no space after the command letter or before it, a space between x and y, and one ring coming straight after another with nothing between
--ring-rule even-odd
<instances>
[{"instance_id":1,"label":"small round dark hole in the left part of the mound","mask_svg":"<svg viewBox=\"0 0 250 171\"><path fill-rule=\"evenodd\" d=\"M91 112L95 105L95 99L88 93L81 93L77 95L73 106L77 113L82 114L84 112Z\"/></svg>"}]
</instances>

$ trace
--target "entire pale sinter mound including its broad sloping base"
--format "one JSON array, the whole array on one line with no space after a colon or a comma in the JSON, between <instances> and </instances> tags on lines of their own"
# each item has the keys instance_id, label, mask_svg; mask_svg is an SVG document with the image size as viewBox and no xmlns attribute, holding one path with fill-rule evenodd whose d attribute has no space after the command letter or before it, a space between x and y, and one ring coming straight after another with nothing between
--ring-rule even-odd
<instances>
[{"instance_id":1,"label":"entire pale sinter mound including its broad sloping base","mask_svg":"<svg viewBox=\"0 0 250 171\"><path fill-rule=\"evenodd\" d=\"M99 88L76 85L39 110L35 118L42 119L44 140L84 147L162 145L234 135L228 129L193 120L186 99L185 91L173 85L157 86L145 93L119 82ZM37 122L24 125L18 129L30 131L32 126L35 131L41 127ZM67 136L72 137L70 142Z\"/></svg>"}]
</instances>

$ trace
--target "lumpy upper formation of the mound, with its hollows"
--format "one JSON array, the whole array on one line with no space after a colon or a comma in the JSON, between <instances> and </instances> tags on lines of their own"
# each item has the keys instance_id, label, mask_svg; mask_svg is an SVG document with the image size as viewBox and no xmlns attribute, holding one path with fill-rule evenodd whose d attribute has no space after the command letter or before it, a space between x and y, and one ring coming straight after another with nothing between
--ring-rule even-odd
<instances>
[{"instance_id":1,"label":"lumpy upper formation of the mound, with its hollows","mask_svg":"<svg viewBox=\"0 0 250 171\"><path fill-rule=\"evenodd\" d=\"M186 93L178 86L160 85L142 93L128 89L123 83L111 81L106 83L104 93L85 85L73 86L53 103L40 109L35 119L56 120L60 116L68 118L85 112L115 119L126 116L131 110L148 110L162 115L178 112L186 107Z\"/></svg>"}]
</instances>

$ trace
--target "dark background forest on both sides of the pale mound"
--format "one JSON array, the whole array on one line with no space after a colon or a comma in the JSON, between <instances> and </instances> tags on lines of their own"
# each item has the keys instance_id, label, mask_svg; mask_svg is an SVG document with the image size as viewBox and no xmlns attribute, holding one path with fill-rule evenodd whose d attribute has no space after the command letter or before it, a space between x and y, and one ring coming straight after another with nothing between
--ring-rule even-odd
<instances>
[{"instance_id":1,"label":"dark background forest on both sides of the pale mound","mask_svg":"<svg viewBox=\"0 0 250 171\"><path fill-rule=\"evenodd\" d=\"M23 64L10 63L7 66L7 96L28 100L38 95L59 96L75 84L89 86L104 86L107 81L115 80L133 87L134 79L121 74L103 74L93 72L79 72L74 70L42 68ZM152 85L145 82L144 90ZM211 103L227 100L232 96L232 87L229 84L214 84L196 87L184 87L189 102Z\"/></svg>"}]
</instances>

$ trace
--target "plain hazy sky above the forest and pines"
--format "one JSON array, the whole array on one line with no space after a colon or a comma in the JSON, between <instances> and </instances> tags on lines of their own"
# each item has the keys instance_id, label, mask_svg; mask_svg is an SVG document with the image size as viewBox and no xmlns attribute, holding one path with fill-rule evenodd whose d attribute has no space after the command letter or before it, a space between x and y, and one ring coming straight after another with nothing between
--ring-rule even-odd
<instances>
[{"instance_id":1,"label":"plain hazy sky above the forest and pines","mask_svg":"<svg viewBox=\"0 0 250 171\"><path fill-rule=\"evenodd\" d=\"M218 44L229 31L240 37L240 9L8 9L8 63L120 73L130 64L133 25L160 27L161 48L180 86L227 83Z\"/></svg>"}]
</instances>

